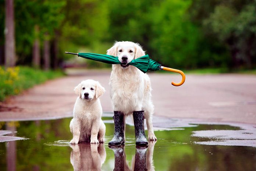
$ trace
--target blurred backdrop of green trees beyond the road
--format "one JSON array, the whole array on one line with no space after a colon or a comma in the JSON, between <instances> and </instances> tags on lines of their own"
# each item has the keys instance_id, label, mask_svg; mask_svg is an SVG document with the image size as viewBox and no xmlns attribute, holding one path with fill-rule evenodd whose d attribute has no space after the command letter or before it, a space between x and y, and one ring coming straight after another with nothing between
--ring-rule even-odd
<instances>
[{"instance_id":1,"label":"blurred backdrop of green trees beyond the road","mask_svg":"<svg viewBox=\"0 0 256 171\"><path fill-rule=\"evenodd\" d=\"M3 65L6 7L0 2ZM256 67L255 0L14 0L14 22L19 65L43 67L48 54L51 68L75 66L64 51L105 54L114 41L133 41L172 68ZM40 63L33 62L35 51Z\"/></svg>"}]
</instances>

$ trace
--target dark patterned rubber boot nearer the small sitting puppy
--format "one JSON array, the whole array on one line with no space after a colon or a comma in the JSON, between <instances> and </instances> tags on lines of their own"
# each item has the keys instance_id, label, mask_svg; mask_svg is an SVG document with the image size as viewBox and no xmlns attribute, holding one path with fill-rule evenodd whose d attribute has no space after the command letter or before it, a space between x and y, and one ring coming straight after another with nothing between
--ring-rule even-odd
<instances>
[{"instance_id":1,"label":"dark patterned rubber boot nearer the small sitting puppy","mask_svg":"<svg viewBox=\"0 0 256 171\"><path fill-rule=\"evenodd\" d=\"M122 145L124 138L124 114L120 111L114 111L114 137L109 145Z\"/></svg>"}]
</instances>

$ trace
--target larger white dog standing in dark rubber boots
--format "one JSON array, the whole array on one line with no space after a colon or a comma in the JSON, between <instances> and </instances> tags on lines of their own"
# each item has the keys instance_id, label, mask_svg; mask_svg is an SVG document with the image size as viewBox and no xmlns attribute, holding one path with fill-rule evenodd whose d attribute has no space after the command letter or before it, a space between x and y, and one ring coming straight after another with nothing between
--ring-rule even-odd
<instances>
[{"instance_id":1,"label":"larger white dog standing in dark rubber boots","mask_svg":"<svg viewBox=\"0 0 256 171\"><path fill-rule=\"evenodd\" d=\"M114 108L115 132L109 145L124 144L125 117L133 115L136 145L147 145L144 131L144 117L146 119L148 139L156 141L152 126L154 105L151 100L150 78L129 62L144 56L141 46L134 42L115 42L107 50L107 55L117 56L120 65L113 65L110 76L110 97ZM123 126L124 125L124 126Z\"/></svg>"}]
</instances>

